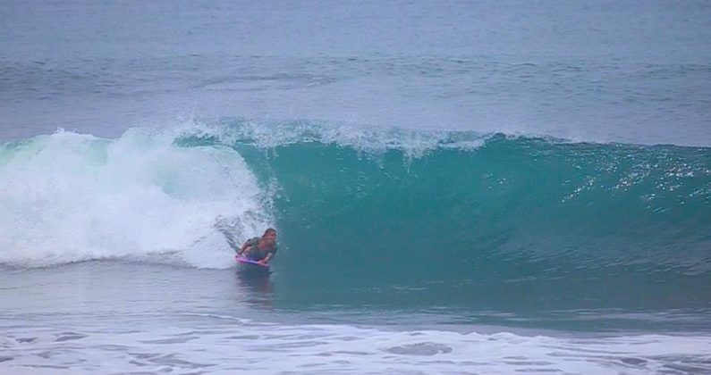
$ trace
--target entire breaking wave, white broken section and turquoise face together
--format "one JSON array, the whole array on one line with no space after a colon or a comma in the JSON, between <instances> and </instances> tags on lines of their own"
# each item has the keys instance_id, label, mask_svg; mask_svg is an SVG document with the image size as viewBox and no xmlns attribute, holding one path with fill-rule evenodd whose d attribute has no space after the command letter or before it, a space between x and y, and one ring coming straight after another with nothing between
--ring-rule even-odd
<instances>
[{"instance_id":1,"label":"entire breaking wave, white broken section and turquoise face together","mask_svg":"<svg viewBox=\"0 0 711 375\"><path fill-rule=\"evenodd\" d=\"M297 285L651 283L707 304L711 281L703 147L236 122L58 132L2 146L0 172L4 263L223 268L223 232L275 226Z\"/></svg>"}]
</instances>

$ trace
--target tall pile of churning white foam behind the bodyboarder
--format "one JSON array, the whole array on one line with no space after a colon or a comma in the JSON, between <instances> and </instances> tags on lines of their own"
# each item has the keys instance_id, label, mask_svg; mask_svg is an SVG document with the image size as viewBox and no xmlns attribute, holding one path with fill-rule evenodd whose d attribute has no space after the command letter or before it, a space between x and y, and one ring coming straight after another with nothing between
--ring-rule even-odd
<instances>
[{"instance_id":1,"label":"tall pile of churning white foam behind the bodyboarder","mask_svg":"<svg viewBox=\"0 0 711 375\"><path fill-rule=\"evenodd\" d=\"M0 262L128 258L231 265L220 228L266 228L257 179L236 151L181 147L168 132L115 140L60 130L0 146Z\"/></svg>"}]
</instances>

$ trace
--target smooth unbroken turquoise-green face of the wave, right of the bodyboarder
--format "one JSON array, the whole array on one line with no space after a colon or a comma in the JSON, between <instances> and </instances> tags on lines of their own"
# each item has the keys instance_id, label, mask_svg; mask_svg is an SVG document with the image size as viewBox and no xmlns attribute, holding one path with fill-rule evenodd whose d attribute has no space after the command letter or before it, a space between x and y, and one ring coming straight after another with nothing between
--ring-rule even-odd
<instances>
[{"instance_id":1,"label":"smooth unbroken turquoise-green face of the wave, right of the bodyboarder","mask_svg":"<svg viewBox=\"0 0 711 375\"><path fill-rule=\"evenodd\" d=\"M416 157L233 146L272 190L279 277L301 300L709 304L708 148L504 136Z\"/></svg>"}]
</instances>

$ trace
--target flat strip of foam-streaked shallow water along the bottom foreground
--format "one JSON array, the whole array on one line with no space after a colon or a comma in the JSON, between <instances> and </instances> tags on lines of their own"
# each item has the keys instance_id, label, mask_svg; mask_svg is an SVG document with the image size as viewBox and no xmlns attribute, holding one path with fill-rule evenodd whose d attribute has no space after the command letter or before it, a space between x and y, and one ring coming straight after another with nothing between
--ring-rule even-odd
<instances>
[{"instance_id":1,"label":"flat strip of foam-streaked shallow water along the bottom foreground","mask_svg":"<svg viewBox=\"0 0 711 375\"><path fill-rule=\"evenodd\" d=\"M711 371L711 337L521 336L345 325L255 323L182 314L149 327L139 314L112 329L52 324L13 328L0 367L17 373L648 374ZM121 324L123 323L123 324ZM123 327L123 328L120 328ZM97 359L100 358L100 361Z\"/></svg>"}]
</instances>

